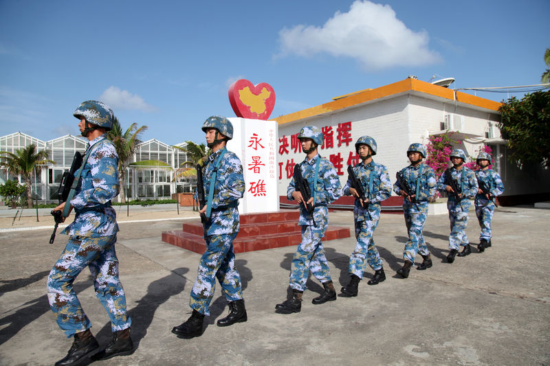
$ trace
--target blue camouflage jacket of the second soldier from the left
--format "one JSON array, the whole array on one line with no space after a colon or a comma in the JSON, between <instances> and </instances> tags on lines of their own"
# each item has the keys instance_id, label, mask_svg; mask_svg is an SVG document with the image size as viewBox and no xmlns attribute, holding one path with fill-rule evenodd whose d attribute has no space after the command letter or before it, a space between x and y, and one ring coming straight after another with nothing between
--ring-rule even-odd
<instances>
[{"instance_id":1,"label":"blue camouflage jacket of the second soldier from the left","mask_svg":"<svg viewBox=\"0 0 550 366\"><path fill-rule=\"evenodd\" d=\"M212 197L212 212L206 223L206 236L223 235L239 232L239 198L245 193L243 165L234 152L225 147L208 157L208 163L203 168L204 194L208 199L210 178L214 174L217 159L225 151L219 165L214 196Z\"/></svg>"}]
</instances>

